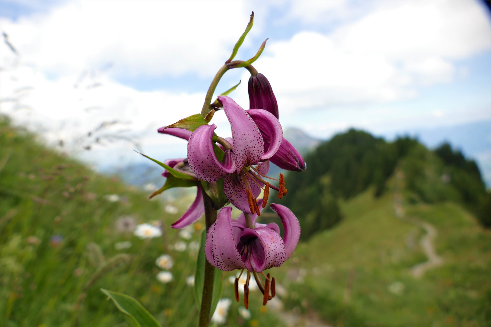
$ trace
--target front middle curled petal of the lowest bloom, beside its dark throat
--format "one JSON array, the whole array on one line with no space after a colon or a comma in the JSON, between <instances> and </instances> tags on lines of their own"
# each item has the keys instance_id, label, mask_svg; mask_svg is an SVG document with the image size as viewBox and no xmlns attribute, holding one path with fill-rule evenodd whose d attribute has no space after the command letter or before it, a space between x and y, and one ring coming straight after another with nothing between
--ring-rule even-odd
<instances>
[{"instance_id":1,"label":"front middle curled petal of the lowest bloom, beside its dark throat","mask_svg":"<svg viewBox=\"0 0 491 327\"><path fill-rule=\"evenodd\" d=\"M249 271L262 272L265 269L279 267L285 259L285 244L271 228L245 228L237 249L241 251L248 244L247 254L243 255L244 264Z\"/></svg>"}]
</instances>

